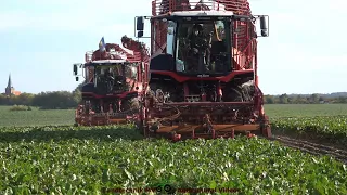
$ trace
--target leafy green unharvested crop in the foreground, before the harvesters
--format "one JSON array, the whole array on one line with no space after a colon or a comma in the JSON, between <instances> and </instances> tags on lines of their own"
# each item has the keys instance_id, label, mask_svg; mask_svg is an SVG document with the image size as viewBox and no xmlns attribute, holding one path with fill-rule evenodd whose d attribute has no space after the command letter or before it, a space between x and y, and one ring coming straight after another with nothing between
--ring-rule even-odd
<instances>
[{"instance_id":1,"label":"leafy green unharvested crop in the foreground, before the harvesters","mask_svg":"<svg viewBox=\"0 0 347 195\"><path fill-rule=\"evenodd\" d=\"M347 194L346 166L262 139L171 143L142 139L126 126L0 133L0 194L98 194L163 182L241 194Z\"/></svg>"}]
</instances>

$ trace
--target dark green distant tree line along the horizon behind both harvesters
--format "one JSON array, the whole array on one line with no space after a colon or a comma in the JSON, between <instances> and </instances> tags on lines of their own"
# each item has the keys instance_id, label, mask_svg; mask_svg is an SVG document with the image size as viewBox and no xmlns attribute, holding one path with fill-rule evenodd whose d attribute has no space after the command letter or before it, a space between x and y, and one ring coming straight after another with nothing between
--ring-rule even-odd
<instances>
[{"instance_id":1,"label":"dark green distant tree line along the horizon behind both harvesters","mask_svg":"<svg viewBox=\"0 0 347 195\"><path fill-rule=\"evenodd\" d=\"M22 93L17 96L0 94L0 105L26 105L41 109L75 108L81 100L79 84L74 91L52 91L38 94ZM281 94L264 95L266 104L326 104L347 103L347 94Z\"/></svg>"}]
</instances>

